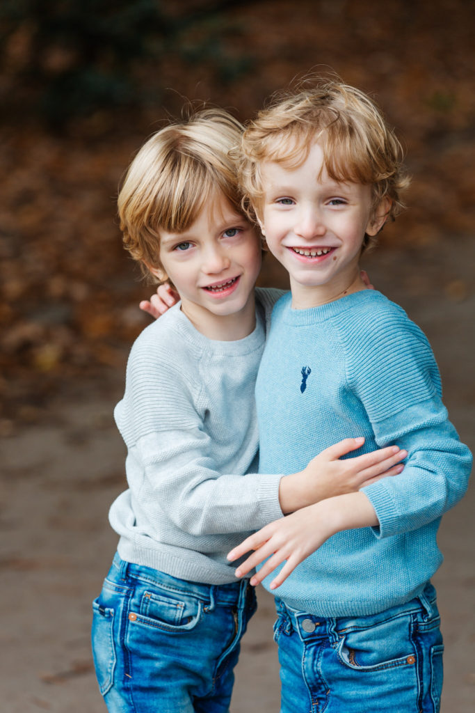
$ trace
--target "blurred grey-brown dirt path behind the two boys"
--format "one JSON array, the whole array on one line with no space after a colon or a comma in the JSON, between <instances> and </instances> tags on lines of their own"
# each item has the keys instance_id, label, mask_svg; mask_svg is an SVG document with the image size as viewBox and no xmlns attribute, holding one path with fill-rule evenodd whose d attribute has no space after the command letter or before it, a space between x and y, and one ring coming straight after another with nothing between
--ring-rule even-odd
<instances>
[{"instance_id":1,"label":"blurred grey-brown dirt path behind the two boys","mask_svg":"<svg viewBox=\"0 0 475 713\"><path fill-rule=\"evenodd\" d=\"M451 250L448 244L387 248L366 262L374 284L429 336L451 418L473 449L474 242L459 241ZM90 660L90 600L116 543L107 512L123 486L124 448L112 419L120 371L100 384L71 384L43 424L1 443L4 713L105 712ZM435 583L446 643L447 713L471 713L475 702L474 510L472 486L445 516L439 537L446 557ZM273 604L265 593L259 600L244 639L233 713L278 711Z\"/></svg>"}]
</instances>

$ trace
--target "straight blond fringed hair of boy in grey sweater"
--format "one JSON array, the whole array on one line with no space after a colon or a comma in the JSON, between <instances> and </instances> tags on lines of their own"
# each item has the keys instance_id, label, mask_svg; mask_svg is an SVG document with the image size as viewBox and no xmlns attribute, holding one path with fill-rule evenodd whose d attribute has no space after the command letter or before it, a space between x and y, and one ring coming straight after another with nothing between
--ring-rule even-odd
<instances>
[{"instance_id":1,"label":"straight blond fringed hair of boy in grey sweater","mask_svg":"<svg viewBox=\"0 0 475 713\"><path fill-rule=\"evenodd\" d=\"M235 160L242 130L226 111L202 109L157 131L139 150L120 188L118 212L125 248L144 275L162 270L160 230L187 230L216 192L243 214Z\"/></svg>"}]
</instances>

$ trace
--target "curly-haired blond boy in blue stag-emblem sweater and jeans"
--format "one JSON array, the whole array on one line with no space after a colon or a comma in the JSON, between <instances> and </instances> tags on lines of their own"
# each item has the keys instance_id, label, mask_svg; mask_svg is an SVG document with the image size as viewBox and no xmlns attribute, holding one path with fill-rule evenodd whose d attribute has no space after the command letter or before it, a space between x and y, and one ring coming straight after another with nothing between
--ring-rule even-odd
<instances>
[{"instance_id":1,"label":"curly-haired blond boy in blue stag-emblem sweater and jeans","mask_svg":"<svg viewBox=\"0 0 475 713\"><path fill-rule=\"evenodd\" d=\"M261 565L251 584L276 595L281 712L438 711L430 579L471 456L426 337L360 279L362 251L402 207L400 144L370 98L329 81L261 111L242 153L246 205L291 282L256 382L261 471L292 473L348 429L368 450L408 451L398 478L302 508L229 554L255 550L236 575Z\"/></svg>"}]
</instances>

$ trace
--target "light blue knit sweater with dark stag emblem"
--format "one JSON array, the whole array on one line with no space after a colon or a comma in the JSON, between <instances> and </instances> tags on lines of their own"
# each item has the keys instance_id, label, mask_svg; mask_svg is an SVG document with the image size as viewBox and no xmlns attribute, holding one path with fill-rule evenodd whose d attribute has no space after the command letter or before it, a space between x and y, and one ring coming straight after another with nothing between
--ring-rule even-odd
<instances>
[{"instance_id":1,"label":"light blue knit sweater with dark stag emblem","mask_svg":"<svg viewBox=\"0 0 475 713\"><path fill-rule=\"evenodd\" d=\"M471 468L421 330L374 290L303 310L288 294L273 310L256 401L263 473L299 471L348 436L365 436L357 453L391 443L409 453L400 476L363 489L380 528L333 535L273 593L323 617L370 615L420 593L442 562L441 515Z\"/></svg>"}]
</instances>

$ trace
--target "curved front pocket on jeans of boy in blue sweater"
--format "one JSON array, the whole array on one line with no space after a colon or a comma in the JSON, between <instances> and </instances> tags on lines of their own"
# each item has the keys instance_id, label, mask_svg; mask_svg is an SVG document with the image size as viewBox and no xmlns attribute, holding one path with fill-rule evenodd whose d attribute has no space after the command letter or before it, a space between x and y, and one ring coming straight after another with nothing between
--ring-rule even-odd
<instances>
[{"instance_id":1,"label":"curved front pocket on jeans of boy in blue sweater","mask_svg":"<svg viewBox=\"0 0 475 713\"><path fill-rule=\"evenodd\" d=\"M411 625L411 617L404 615L374 625L368 622L367 626L340 630L338 657L345 666L360 671L414 666Z\"/></svg>"}]
</instances>

